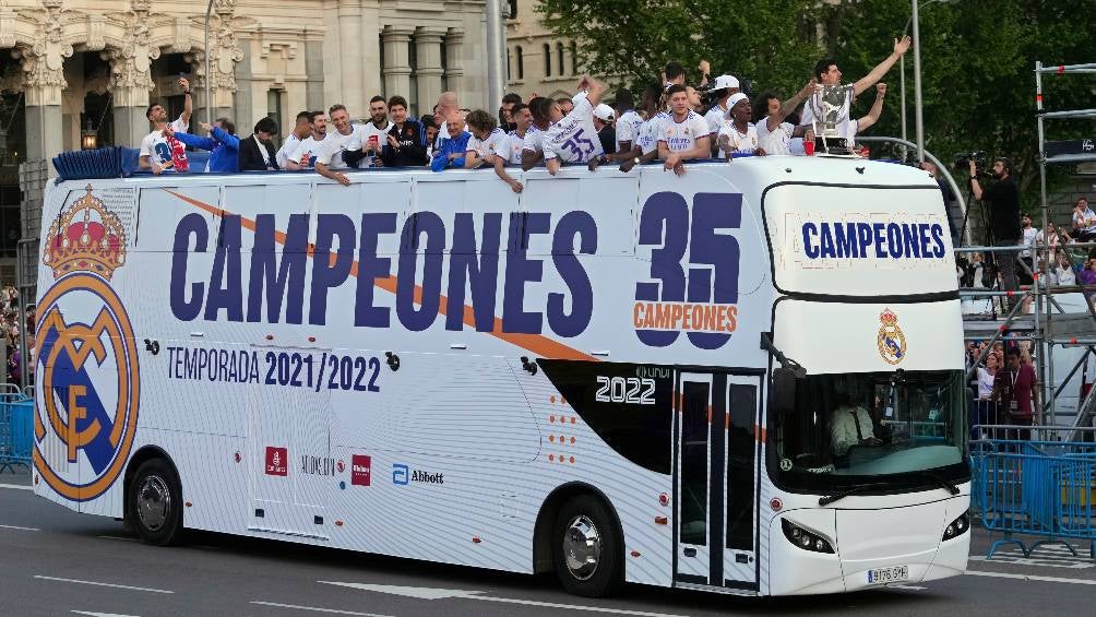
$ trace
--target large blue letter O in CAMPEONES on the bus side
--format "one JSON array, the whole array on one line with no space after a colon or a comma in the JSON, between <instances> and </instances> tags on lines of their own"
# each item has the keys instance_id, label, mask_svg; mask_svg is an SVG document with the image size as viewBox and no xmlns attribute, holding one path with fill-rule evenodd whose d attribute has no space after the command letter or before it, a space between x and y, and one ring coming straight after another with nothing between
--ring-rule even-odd
<instances>
[{"instance_id":1,"label":"large blue letter O in CAMPEONES on the bus side","mask_svg":"<svg viewBox=\"0 0 1096 617\"><path fill-rule=\"evenodd\" d=\"M403 224L403 235L409 240L409 245L400 252L400 274L396 283L396 315L404 328L412 332L421 332L434 323L441 308L445 224L434 213L415 213ZM426 244L420 253L419 239L423 235L426 236ZM414 296L420 254L423 256L422 287L419 289L421 302L416 310Z\"/></svg>"}]
</instances>

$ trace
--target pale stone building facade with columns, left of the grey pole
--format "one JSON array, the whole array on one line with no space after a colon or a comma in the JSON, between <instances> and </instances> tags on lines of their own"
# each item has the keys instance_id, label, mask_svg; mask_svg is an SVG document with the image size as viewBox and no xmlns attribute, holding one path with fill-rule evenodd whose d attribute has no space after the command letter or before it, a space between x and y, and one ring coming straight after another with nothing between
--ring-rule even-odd
<instances>
[{"instance_id":1,"label":"pale stone building facade with columns, left of the grey pole","mask_svg":"<svg viewBox=\"0 0 1096 617\"><path fill-rule=\"evenodd\" d=\"M0 3L0 282L13 277L19 165L52 173L41 161L79 149L83 137L137 146L150 103L172 115L182 108L180 75L191 80L195 119L205 119L208 79L213 117L233 118L244 135L264 115L284 134L297 112L333 103L364 117L375 94L402 94L412 113L429 112L445 90L463 106L487 103L484 0L213 0L209 76L206 8L202 0Z\"/></svg>"}]
</instances>

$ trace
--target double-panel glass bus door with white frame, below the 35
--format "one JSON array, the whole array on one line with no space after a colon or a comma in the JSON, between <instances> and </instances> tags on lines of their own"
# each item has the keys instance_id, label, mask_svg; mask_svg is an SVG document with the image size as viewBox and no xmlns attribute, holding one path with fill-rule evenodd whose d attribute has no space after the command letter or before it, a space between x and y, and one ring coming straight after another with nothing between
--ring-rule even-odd
<instances>
[{"instance_id":1,"label":"double-panel glass bus door with white frame, below the 35","mask_svg":"<svg viewBox=\"0 0 1096 617\"><path fill-rule=\"evenodd\" d=\"M757 589L762 376L681 373L675 397L674 581Z\"/></svg>"}]
</instances>

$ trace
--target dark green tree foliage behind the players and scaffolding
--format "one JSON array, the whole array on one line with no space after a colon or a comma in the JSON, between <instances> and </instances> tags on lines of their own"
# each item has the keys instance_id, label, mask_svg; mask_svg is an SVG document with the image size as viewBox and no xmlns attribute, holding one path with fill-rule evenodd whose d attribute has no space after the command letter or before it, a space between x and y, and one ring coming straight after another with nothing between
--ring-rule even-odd
<instances>
[{"instance_id":1,"label":"dark green tree foliage behind the players and scaffolding","mask_svg":"<svg viewBox=\"0 0 1096 617\"><path fill-rule=\"evenodd\" d=\"M945 161L985 150L1012 158L1025 209L1038 191L1035 61L1096 62L1092 0L922 0L920 11L925 147ZM687 68L709 59L712 72L750 79L755 92L787 96L823 55L848 82L891 52L910 18L910 0L540 0L546 25L579 41L583 65L632 84L658 80L669 60ZM911 28L912 30L912 28ZM907 133L914 138L914 70L905 57ZM695 78L694 75L690 78ZM901 135L899 68L874 135ZM1093 106L1094 76L1046 76L1048 111ZM857 102L864 114L872 96ZM1049 139L1092 137L1096 123L1048 122ZM1053 170L1059 173L1066 170ZM1052 180L1054 175L1052 174Z\"/></svg>"}]
</instances>

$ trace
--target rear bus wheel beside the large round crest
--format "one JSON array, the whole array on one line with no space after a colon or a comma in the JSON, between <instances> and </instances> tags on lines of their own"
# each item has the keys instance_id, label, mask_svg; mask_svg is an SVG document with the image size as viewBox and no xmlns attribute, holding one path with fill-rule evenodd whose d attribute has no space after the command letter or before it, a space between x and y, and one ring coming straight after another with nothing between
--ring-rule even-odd
<instances>
[{"instance_id":1,"label":"rear bus wheel beside the large round crest","mask_svg":"<svg viewBox=\"0 0 1096 617\"><path fill-rule=\"evenodd\" d=\"M178 544L183 532L183 491L174 470L162 458L146 460L129 483L129 521L147 544Z\"/></svg>"}]
</instances>

